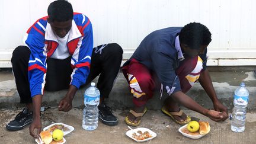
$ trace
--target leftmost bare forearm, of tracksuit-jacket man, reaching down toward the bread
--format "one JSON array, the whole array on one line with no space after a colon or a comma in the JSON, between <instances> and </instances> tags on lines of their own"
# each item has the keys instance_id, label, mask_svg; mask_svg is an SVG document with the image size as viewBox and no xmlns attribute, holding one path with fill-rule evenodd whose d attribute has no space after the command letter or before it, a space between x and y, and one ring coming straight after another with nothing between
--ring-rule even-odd
<instances>
[{"instance_id":1,"label":"leftmost bare forearm, of tracksuit-jacket man, reaching down toward the bread","mask_svg":"<svg viewBox=\"0 0 256 144\"><path fill-rule=\"evenodd\" d=\"M35 95L33 97L33 118L40 119L40 108L41 108L41 101L42 95Z\"/></svg>"}]
</instances>

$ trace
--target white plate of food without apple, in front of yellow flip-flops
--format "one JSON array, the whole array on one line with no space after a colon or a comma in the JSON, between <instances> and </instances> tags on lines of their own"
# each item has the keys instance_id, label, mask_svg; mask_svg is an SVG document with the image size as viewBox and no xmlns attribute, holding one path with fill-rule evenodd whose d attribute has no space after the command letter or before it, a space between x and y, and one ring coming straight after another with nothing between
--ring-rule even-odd
<instances>
[{"instance_id":1,"label":"white plate of food without apple, in front of yellow flip-flops","mask_svg":"<svg viewBox=\"0 0 256 144\"><path fill-rule=\"evenodd\" d=\"M145 127L139 127L137 129L128 130L126 135L136 142L145 142L156 137L156 133Z\"/></svg>"}]
</instances>

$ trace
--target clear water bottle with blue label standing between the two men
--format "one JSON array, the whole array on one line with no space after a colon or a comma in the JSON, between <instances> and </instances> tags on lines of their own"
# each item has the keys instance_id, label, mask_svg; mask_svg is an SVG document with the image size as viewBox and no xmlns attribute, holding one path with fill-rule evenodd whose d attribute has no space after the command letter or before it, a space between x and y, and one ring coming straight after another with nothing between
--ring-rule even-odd
<instances>
[{"instance_id":1,"label":"clear water bottle with blue label standing between the two men","mask_svg":"<svg viewBox=\"0 0 256 144\"><path fill-rule=\"evenodd\" d=\"M91 87L85 90L84 94L84 115L82 127L85 130L95 130L98 127L98 105L100 103L100 91L91 82Z\"/></svg>"}]
</instances>

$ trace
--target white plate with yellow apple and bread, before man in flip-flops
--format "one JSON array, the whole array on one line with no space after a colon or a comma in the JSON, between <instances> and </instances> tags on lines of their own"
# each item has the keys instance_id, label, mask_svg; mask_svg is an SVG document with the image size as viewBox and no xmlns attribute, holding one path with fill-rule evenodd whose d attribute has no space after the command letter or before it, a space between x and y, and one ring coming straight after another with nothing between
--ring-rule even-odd
<instances>
[{"instance_id":1,"label":"white plate with yellow apple and bread, before man in flip-flops","mask_svg":"<svg viewBox=\"0 0 256 144\"><path fill-rule=\"evenodd\" d=\"M210 124L207 121L190 121L178 130L182 135L191 139L199 139L210 132Z\"/></svg>"}]
</instances>

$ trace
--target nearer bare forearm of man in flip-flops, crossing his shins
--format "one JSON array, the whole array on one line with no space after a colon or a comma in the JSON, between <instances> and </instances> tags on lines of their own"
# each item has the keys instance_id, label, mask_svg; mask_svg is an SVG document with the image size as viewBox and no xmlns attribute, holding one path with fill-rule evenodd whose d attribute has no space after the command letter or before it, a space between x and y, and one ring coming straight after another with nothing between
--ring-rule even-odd
<instances>
[{"instance_id":1,"label":"nearer bare forearm of man in flip-flops, crossing his shins","mask_svg":"<svg viewBox=\"0 0 256 144\"><path fill-rule=\"evenodd\" d=\"M207 109L202 107L200 104L196 103L192 98L188 97L188 95L184 94L181 91L175 92L171 95L177 103L184 105L190 110L197 111L198 113L203 114L204 116L207 114Z\"/></svg>"}]
</instances>

